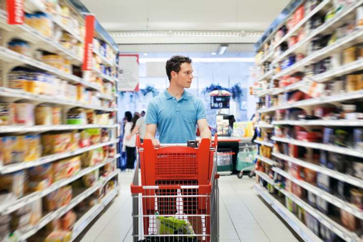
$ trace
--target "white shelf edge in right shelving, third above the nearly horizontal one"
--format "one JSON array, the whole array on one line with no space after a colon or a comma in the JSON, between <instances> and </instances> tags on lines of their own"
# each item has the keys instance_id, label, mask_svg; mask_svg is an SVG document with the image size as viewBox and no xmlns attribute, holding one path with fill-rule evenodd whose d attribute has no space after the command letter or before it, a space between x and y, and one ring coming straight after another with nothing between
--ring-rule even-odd
<instances>
[{"instance_id":1,"label":"white shelf edge in right shelving, third above the nearly horizontal one","mask_svg":"<svg viewBox=\"0 0 363 242\"><path fill-rule=\"evenodd\" d=\"M329 57L333 52L348 48L349 46L352 46L357 42L361 42L362 37L363 28L358 28L353 33L337 40L337 42L335 42L334 44L326 46L323 49L314 52L313 54L286 68L285 70L277 73L275 76L272 77L272 79L279 79L290 73L301 71L306 65L311 64L313 61L317 62L323 58Z\"/></svg>"}]
</instances>

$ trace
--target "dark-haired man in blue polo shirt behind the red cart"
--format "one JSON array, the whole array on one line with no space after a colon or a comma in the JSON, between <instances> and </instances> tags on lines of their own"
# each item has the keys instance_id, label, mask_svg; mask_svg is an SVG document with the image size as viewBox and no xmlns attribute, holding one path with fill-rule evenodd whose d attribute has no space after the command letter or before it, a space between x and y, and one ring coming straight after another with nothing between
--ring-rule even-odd
<instances>
[{"instance_id":1,"label":"dark-haired man in blue polo shirt behind the red cart","mask_svg":"<svg viewBox=\"0 0 363 242\"><path fill-rule=\"evenodd\" d=\"M192 60L175 55L166 61L169 87L149 104L146 114L146 139L154 146L161 143L186 143L196 139L196 125L201 138L211 139L202 100L186 92L193 80ZM159 140L155 139L156 130Z\"/></svg>"}]
</instances>

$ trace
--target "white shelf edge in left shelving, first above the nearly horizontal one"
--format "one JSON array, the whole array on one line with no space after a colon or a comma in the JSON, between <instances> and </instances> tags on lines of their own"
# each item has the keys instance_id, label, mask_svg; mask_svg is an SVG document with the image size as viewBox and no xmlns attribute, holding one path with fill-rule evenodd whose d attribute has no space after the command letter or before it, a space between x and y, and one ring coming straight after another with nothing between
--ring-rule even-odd
<instances>
[{"instance_id":1,"label":"white shelf edge in left shelving, first above the nearly horizontal one","mask_svg":"<svg viewBox=\"0 0 363 242\"><path fill-rule=\"evenodd\" d=\"M97 107L92 105L85 105L81 102L75 102L75 101L68 101L65 98L58 98L54 96L49 95L40 95L40 94L33 94L25 91L20 91L16 89L6 88L6 87L0 87L0 97L6 97L9 99L12 99L12 101L15 100L31 100L34 102L41 102L41 103L52 103L52 104L58 104L68 107L79 107L79 108L88 108L88 109L95 109L95 110L102 110L106 112L113 112L116 111L116 108L103 108L103 107Z\"/></svg>"}]
</instances>

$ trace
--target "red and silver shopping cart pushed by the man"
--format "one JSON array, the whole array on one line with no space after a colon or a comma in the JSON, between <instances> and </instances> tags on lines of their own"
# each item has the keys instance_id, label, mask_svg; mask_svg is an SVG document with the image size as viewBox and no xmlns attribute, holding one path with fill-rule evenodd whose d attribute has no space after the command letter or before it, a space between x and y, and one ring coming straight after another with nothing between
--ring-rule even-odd
<instances>
[{"instance_id":1,"label":"red and silver shopping cart pushed by the man","mask_svg":"<svg viewBox=\"0 0 363 242\"><path fill-rule=\"evenodd\" d=\"M151 140L137 144L132 193L133 241L218 242L217 136L198 148ZM140 184L141 181L141 184Z\"/></svg>"}]
</instances>

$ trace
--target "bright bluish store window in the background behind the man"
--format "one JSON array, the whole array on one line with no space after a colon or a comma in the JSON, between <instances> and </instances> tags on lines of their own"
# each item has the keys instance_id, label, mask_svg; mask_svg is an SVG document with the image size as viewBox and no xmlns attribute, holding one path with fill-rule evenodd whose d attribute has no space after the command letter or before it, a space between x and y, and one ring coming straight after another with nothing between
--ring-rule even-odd
<instances>
[{"instance_id":1,"label":"bright bluish store window in the background behind the man","mask_svg":"<svg viewBox=\"0 0 363 242\"><path fill-rule=\"evenodd\" d=\"M170 54L171 56L173 54ZM252 54L246 54L252 56ZM189 55L190 56L190 55ZM120 112L119 118L123 118L125 111L130 110L141 112L147 110L148 104L156 95L162 93L168 86L169 80L166 77L165 69L160 70L159 77L150 77L148 75L148 62L141 62L139 67L140 89L138 93L126 92L119 94ZM153 64L155 65L155 63ZM160 62L160 68L165 66L165 62ZM201 98L206 107L207 120L211 127L215 127L215 116L218 109L210 108L210 97L208 95L211 88L220 86L233 92L230 109L222 109L225 114L234 115L236 121L246 121L251 118L255 112L256 98L249 94L251 78L249 69L254 66L253 62L196 62L193 63L194 79L188 92ZM163 73L162 73L163 71ZM155 75L154 75L155 76ZM157 76L157 75L156 75ZM147 91L145 90L147 89ZM146 95L142 92L147 92ZM119 119L120 120L120 119Z\"/></svg>"}]
</instances>

